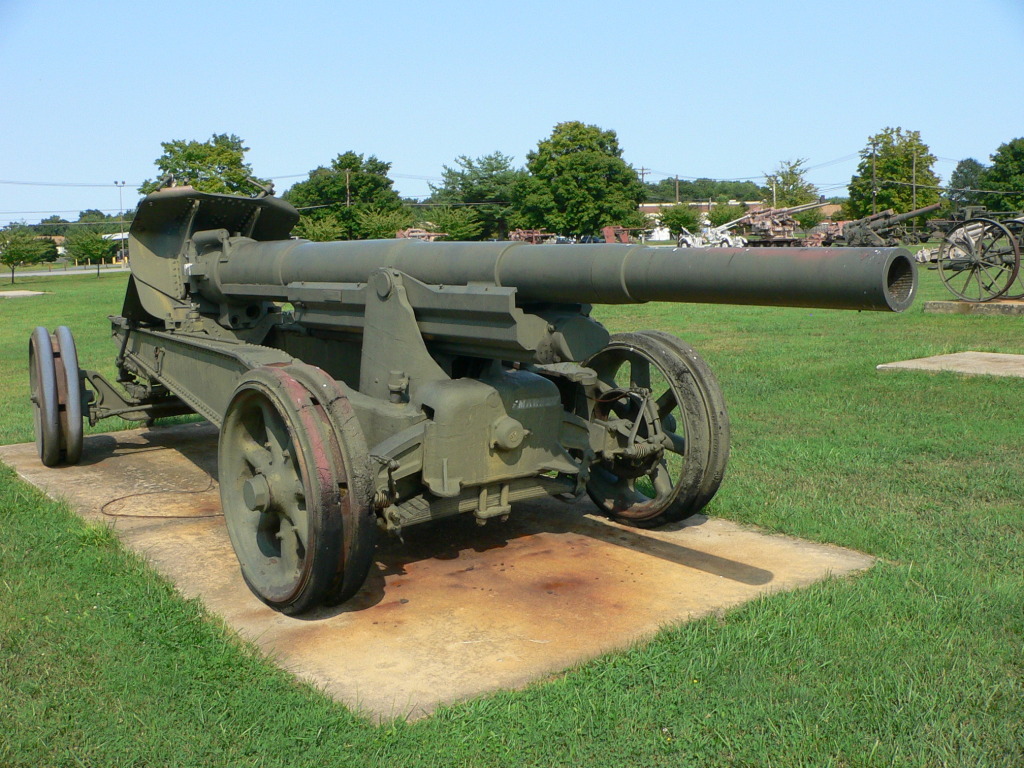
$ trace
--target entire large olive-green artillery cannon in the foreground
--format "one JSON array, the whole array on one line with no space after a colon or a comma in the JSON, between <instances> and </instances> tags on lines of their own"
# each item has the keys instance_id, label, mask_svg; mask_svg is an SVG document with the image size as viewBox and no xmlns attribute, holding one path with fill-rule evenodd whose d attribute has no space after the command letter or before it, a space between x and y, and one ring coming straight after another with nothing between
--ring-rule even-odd
<instances>
[{"instance_id":1,"label":"entire large olive-green artillery cannon in the foreground","mask_svg":"<svg viewBox=\"0 0 1024 768\"><path fill-rule=\"evenodd\" d=\"M699 511L726 468L714 374L657 331L610 336L592 303L901 310L899 249L565 249L289 240L272 197L145 198L112 317L121 388L79 371L67 328L30 341L44 464L83 417L196 412L220 428L221 505L242 573L287 613L360 588L378 529L589 494L654 526Z\"/></svg>"}]
</instances>

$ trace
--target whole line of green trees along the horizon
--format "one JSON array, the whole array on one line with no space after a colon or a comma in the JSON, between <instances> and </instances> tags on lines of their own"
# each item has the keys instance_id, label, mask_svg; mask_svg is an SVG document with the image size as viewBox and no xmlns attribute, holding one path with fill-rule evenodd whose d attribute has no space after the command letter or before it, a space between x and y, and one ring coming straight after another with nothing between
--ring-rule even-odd
<instances>
[{"instance_id":1,"label":"whole line of green trees along the horizon","mask_svg":"<svg viewBox=\"0 0 1024 768\"><path fill-rule=\"evenodd\" d=\"M176 139L162 143L156 166L160 176L146 180L148 194L168 183L189 183L209 193L252 195L267 189L246 160L249 147L233 134L214 134L206 141ZM936 157L919 131L885 128L869 136L849 183L838 218L856 219L892 209L903 213L941 202L938 216L965 205L989 210L1024 209L1024 137L1001 144L990 164L968 158L940 186ZM535 229L562 236L593 236L612 224L649 228L654 222L639 211L642 203L663 204L659 223L673 234L698 226L697 213L687 204L714 203L711 223L738 218L742 203L763 202L778 208L821 200L807 180L805 159L780 162L753 180L666 178L644 183L623 159L613 130L581 122L559 123L550 136L526 154L523 166L501 152L479 158L460 156L443 166L440 182L430 185L427 199L402 199L388 176L389 162L354 151L339 154L308 172L283 198L302 214L295 234L309 240L392 238L399 229L421 226L447 240L505 239L513 229ZM738 205L737 205L738 203ZM59 216L30 227L13 223L0 229L0 263L13 269L55 256L52 244L35 236L62 236L70 255L91 262L113 254L117 245L103 233L127 227L132 212L120 217L83 211L78 221ZM808 211L800 218L810 227L821 218Z\"/></svg>"}]
</instances>

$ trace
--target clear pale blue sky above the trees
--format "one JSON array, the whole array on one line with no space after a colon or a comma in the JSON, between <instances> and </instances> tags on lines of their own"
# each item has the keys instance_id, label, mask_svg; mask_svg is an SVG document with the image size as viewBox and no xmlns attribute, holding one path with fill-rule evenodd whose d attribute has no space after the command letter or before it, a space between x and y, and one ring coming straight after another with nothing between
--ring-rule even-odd
<instances>
[{"instance_id":1,"label":"clear pale blue sky above the trees","mask_svg":"<svg viewBox=\"0 0 1024 768\"><path fill-rule=\"evenodd\" d=\"M648 181L806 158L845 194L887 126L948 179L1024 135L1022 75L1024 0L0 0L0 225L130 207L161 141L214 133L279 194L352 150L423 196L566 120Z\"/></svg>"}]
</instances>

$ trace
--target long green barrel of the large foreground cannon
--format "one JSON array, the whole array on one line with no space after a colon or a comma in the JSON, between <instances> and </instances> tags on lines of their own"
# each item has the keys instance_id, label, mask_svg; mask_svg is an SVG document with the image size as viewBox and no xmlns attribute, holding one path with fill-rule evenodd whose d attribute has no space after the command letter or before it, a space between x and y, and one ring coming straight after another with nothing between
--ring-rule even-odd
<instances>
[{"instance_id":1,"label":"long green barrel of the large foreground cannon","mask_svg":"<svg viewBox=\"0 0 1024 768\"><path fill-rule=\"evenodd\" d=\"M210 258L208 290L280 298L290 284L365 283L382 267L432 285L515 288L519 303L646 301L901 311L918 274L900 248L708 248L415 240L234 241Z\"/></svg>"}]
</instances>

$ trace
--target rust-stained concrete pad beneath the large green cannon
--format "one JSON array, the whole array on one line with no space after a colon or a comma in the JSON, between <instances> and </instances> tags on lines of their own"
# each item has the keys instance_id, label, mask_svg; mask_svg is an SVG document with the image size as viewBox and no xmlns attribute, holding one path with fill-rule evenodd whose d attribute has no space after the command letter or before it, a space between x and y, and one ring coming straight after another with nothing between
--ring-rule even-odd
<instances>
[{"instance_id":1,"label":"rust-stained concrete pad beneath the large green cannon","mask_svg":"<svg viewBox=\"0 0 1024 768\"><path fill-rule=\"evenodd\" d=\"M658 531L586 514L589 503L518 505L382 538L348 603L293 618L257 600L219 516L208 424L86 437L82 463L47 469L34 444L0 459L88 520L113 525L188 597L274 662L375 719L516 688L659 628L758 595L870 567L858 552L702 516Z\"/></svg>"}]
</instances>

